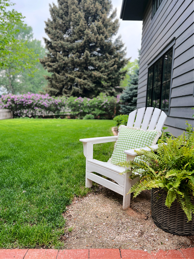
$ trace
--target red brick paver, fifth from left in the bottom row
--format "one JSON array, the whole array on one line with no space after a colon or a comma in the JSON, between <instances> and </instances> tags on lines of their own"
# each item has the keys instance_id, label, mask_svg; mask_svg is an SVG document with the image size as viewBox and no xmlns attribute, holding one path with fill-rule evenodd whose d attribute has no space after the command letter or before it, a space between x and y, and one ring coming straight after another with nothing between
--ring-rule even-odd
<instances>
[{"instance_id":1,"label":"red brick paver, fifth from left in the bottom row","mask_svg":"<svg viewBox=\"0 0 194 259\"><path fill-rule=\"evenodd\" d=\"M151 254L143 250L121 249L122 259L152 259Z\"/></svg>"}]
</instances>

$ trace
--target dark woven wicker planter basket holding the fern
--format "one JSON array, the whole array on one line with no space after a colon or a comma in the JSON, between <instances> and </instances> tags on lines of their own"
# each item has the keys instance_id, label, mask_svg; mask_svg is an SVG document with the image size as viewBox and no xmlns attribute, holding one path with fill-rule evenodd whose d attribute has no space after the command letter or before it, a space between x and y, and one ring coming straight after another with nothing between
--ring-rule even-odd
<instances>
[{"instance_id":1,"label":"dark woven wicker planter basket holding the fern","mask_svg":"<svg viewBox=\"0 0 194 259\"><path fill-rule=\"evenodd\" d=\"M151 190L151 216L156 226L174 235L194 235L194 216L187 222L187 216L176 200L168 209L164 205L166 196L164 189Z\"/></svg>"}]
</instances>

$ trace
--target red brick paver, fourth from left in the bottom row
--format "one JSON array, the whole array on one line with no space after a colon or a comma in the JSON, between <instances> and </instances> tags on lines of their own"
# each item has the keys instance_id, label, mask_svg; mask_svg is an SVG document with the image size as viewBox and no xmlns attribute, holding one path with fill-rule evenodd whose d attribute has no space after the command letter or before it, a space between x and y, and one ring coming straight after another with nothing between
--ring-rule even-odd
<instances>
[{"instance_id":1,"label":"red brick paver, fourth from left in the bottom row","mask_svg":"<svg viewBox=\"0 0 194 259\"><path fill-rule=\"evenodd\" d=\"M90 259L121 259L119 249L90 249Z\"/></svg>"}]
</instances>

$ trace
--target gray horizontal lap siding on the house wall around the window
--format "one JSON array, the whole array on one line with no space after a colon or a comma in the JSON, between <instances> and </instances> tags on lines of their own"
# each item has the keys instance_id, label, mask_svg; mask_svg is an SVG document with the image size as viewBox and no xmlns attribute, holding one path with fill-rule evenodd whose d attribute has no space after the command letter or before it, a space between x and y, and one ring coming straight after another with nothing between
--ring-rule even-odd
<instances>
[{"instance_id":1,"label":"gray horizontal lap siding on the house wall around the window","mask_svg":"<svg viewBox=\"0 0 194 259\"><path fill-rule=\"evenodd\" d=\"M146 105L149 63L175 38L172 67L171 101L166 125L177 135L185 121L193 125L194 106L194 2L163 0L151 18L152 0L143 18L137 108ZM167 47L168 49L168 47ZM194 126L194 125L193 125Z\"/></svg>"}]
</instances>

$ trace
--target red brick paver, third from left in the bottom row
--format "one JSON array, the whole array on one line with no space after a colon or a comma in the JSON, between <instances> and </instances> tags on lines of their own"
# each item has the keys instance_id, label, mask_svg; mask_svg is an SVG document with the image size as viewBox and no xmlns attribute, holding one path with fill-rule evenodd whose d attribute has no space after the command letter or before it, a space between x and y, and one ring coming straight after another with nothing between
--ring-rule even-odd
<instances>
[{"instance_id":1,"label":"red brick paver, third from left in the bottom row","mask_svg":"<svg viewBox=\"0 0 194 259\"><path fill-rule=\"evenodd\" d=\"M88 258L89 258L88 249L60 250L57 255L57 259L88 259Z\"/></svg>"}]
</instances>

